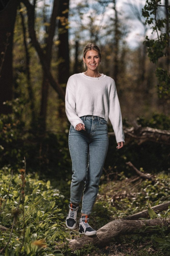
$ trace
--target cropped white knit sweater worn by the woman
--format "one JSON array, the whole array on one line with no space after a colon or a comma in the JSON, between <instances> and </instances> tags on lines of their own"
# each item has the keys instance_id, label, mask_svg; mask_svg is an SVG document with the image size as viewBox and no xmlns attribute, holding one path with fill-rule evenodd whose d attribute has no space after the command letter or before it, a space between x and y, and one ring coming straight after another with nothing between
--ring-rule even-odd
<instances>
[{"instance_id":1,"label":"cropped white knit sweater worn by the woman","mask_svg":"<svg viewBox=\"0 0 170 256\"><path fill-rule=\"evenodd\" d=\"M84 124L80 116L100 116L107 122L109 118L116 142L124 141L119 99L111 77L89 77L84 73L71 76L66 87L66 114L74 129L77 124Z\"/></svg>"}]
</instances>

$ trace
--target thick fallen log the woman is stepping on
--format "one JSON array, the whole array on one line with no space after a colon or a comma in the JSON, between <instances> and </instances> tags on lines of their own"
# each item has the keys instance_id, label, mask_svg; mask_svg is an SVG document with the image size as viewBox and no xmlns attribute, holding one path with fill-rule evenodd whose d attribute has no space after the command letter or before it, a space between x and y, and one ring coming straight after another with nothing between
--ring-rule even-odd
<instances>
[{"instance_id":1,"label":"thick fallen log the woman is stepping on","mask_svg":"<svg viewBox=\"0 0 170 256\"><path fill-rule=\"evenodd\" d=\"M92 243L94 246L103 247L112 242L114 237L137 232L140 228L147 226L165 226L170 224L170 219L150 219L150 220L113 220L97 230L95 236L82 236L69 241L69 248L72 251L82 248ZM149 230L148 230L149 232Z\"/></svg>"}]
</instances>

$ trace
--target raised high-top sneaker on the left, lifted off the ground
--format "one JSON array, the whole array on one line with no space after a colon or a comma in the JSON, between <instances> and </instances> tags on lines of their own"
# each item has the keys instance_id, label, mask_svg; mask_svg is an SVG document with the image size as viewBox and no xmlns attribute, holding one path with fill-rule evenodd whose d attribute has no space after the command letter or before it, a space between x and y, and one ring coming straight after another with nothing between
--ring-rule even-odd
<instances>
[{"instance_id":1,"label":"raised high-top sneaker on the left, lifted off the ground","mask_svg":"<svg viewBox=\"0 0 170 256\"><path fill-rule=\"evenodd\" d=\"M66 226L69 229L74 229L77 221L76 218L77 218L77 211L79 210L79 205L75 206L72 203L70 203L69 208L70 210L66 218Z\"/></svg>"}]
</instances>

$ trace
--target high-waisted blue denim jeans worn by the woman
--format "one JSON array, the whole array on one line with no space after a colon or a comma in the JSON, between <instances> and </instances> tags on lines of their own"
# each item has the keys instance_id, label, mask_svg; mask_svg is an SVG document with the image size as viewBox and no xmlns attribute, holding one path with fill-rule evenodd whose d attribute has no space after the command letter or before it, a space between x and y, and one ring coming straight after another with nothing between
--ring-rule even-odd
<instances>
[{"instance_id":1,"label":"high-waisted blue denim jeans worn by the woman","mask_svg":"<svg viewBox=\"0 0 170 256\"><path fill-rule=\"evenodd\" d=\"M78 204L83 194L81 212L89 215L96 200L108 150L108 131L107 122L101 117L86 115L81 119L86 131L76 131L72 125L69 131L73 172L70 201Z\"/></svg>"}]
</instances>

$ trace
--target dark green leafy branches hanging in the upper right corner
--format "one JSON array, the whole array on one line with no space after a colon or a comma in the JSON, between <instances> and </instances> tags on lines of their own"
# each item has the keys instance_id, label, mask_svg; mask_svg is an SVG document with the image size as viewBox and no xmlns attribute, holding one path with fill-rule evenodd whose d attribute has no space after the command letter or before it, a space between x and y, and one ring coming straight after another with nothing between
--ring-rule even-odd
<instances>
[{"instance_id":1,"label":"dark green leafy branches hanging in the upper right corner","mask_svg":"<svg viewBox=\"0 0 170 256\"><path fill-rule=\"evenodd\" d=\"M160 8L161 0L147 0L142 15L146 18L146 24L152 25L152 33L157 35L156 39L149 39L146 36L144 44L147 46L148 56L150 61L157 63L161 57L169 58L169 32L170 32L170 16L167 18L158 18L158 9ZM165 6L167 13L170 11L170 6ZM168 50L167 50L168 49ZM169 60L167 60L168 62ZM168 69L168 66L167 66ZM158 95L159 98L168 99L170 95L170 76L168 70L161 67L156 68L156 77L158 78Z\"/></svg>"}]
</instances>

